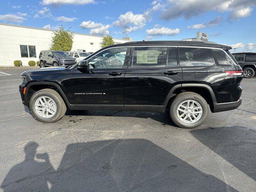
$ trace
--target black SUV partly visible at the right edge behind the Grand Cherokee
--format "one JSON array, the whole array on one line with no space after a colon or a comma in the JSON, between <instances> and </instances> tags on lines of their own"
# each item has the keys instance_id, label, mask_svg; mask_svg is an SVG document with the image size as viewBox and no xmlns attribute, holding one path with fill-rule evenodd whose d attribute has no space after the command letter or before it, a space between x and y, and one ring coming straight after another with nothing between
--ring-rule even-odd
<instances>
[{"instance_id":1,"label":"black SUV partly visible at the right edge behind the Grand Cherokee","mask_svg":"<svg viewBox=\"0 0 256 192\"><path fill-rule=\"evenodd\" d=\"M256 53L244 52L232 54L243 69L244 78L252 78L256 71Z\"/></svg>"}]
</instances>

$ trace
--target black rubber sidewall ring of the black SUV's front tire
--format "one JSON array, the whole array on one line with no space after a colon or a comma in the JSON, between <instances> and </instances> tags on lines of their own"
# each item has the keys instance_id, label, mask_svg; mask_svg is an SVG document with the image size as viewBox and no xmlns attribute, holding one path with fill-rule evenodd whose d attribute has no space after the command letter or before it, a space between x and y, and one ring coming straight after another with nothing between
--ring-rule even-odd
<instances>
[{"instance_id":1,"label":"black rubber sidewall ring of the black SUV's front tire","mask_svg":"<svg viewBox=\"0 0 256 192\"><path fill-rule=\"evenodd\" d=\"M41 96L48 96L50 98L52 98L52 100L54 100L55 104L56 104L56 113L54 114L54 116L52 116L51 118L43 118L41 117L39 114L37 114L36 109L35 109L35 102L36 100L41 97ZM58 97L54 94L52 94L51 92L39 92L39 93L35 93L31 100L30 100L30 110L34 116L34 118L36 120L39 120L41 122L55 122L59 119L62 110L62 106L61 106L61 102L58 99Z\"/></svg>"}]
</instances>

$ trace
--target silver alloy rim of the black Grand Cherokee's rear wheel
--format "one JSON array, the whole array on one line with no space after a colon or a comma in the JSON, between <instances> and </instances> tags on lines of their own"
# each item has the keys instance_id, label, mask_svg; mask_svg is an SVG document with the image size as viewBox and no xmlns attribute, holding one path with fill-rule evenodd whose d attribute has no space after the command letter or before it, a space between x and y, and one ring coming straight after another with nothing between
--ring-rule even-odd
<instances>
[{"instance_id":1,"label":"silver alloy rim of the black Grand Cherokee's rear wheel","mask_svg":"<svg viewBox=\"0 0 256 192\"><path fill-rule=\"evenodd\" d=\"M183 101L177 108L178 118L187 124L198 122L202 117L202 113L202 106L195 100Z\"/></svg>"}]
</instances>

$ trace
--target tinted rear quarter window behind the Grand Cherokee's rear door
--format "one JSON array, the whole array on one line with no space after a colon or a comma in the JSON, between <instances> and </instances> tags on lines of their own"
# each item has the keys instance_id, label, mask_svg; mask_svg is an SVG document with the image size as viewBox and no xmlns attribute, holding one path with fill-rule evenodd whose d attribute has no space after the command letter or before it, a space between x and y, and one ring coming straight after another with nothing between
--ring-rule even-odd
<instances>
[{"instance_id":1,"label":"tinted rear quarter window behind the Grand Cherokee's rear door","mask_svg":"<svg viewBox=\"0 0 256 192\"><path fill-rule=\"evenodd\" d=\"M179 47L180 66L212 66L215 60L208 48Z\"/></svg>"}]
</instances>

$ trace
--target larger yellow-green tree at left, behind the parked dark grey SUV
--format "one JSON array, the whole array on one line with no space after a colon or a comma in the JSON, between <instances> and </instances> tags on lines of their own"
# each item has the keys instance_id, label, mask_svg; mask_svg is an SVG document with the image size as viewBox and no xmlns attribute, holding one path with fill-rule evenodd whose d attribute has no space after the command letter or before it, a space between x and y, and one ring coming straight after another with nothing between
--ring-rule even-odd
<instances>
[{"instance_id":1,"label":"larger yellow-green tree at left, behind the parked dark grey SUV","mask_svg":"<svg viewBox=\"0 0 256 192\"><path fill-rule=\"evenodd\" d=\"M73 44L73 32L69 29L65 30L64 27L60 27L53 32L52 44L50 50L70 51Z\"/></svg>"}]
</instances>

